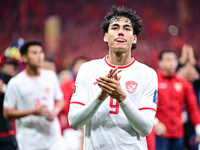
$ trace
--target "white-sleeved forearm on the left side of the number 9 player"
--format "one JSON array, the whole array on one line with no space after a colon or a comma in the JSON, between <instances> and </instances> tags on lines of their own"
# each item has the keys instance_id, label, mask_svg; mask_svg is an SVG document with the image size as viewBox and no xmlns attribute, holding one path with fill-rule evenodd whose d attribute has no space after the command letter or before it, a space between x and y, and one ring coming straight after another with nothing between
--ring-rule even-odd
<instances>
[{"instance_id":1,"label":"white-sleeved forearm on the left side of the number 9 player","mask_svg":"<svg viewBox=\"0 0 200 150\"><path fill-rule=\"evenodd\" d=\"M80 104L70 104L69 109L69 125L74 129L78 130L94 116L102 101L95 98L94 100L87 103L85 106Z\"/></svg>"}]
</instances>

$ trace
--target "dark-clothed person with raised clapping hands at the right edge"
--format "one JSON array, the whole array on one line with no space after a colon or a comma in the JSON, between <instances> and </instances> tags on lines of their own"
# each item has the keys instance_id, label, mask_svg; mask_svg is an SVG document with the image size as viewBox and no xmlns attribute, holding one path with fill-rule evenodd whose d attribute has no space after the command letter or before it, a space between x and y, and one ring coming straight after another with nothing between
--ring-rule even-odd
<instances>
[{"instance_id":1,"label":"dark-clothed person with raised clapping hands at the right edge","mask_svg":"<svg viewBox=\"0 0 200 150\"><path fill-rule=\"evenodd\" d=\"M179 75L186 78L192 85L196 93L198 108L200 109L200 69L196 64L193 48L190 45L184 45L179 59ZM191 119L187 110L183 112L184 121L184 146L188 150L198 150L198 144L195 143L195 129L192 126Z\"/></svg>"}]
</instances>

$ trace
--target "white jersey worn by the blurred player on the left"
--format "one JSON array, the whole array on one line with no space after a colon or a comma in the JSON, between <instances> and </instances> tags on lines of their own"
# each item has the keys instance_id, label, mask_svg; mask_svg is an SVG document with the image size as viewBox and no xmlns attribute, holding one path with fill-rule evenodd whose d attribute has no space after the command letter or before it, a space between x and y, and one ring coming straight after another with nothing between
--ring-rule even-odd
<instances>
[{"instance_id":1,"label":"white jersey worn by the blurred player on the left","mask_svg":"<svg viewBox=\"0 0 200 150\"><path fill-rule=\"evenodd\" d=\"M55 100L62 100L56 74L40 70L40 75L31 77L20 72L8 83L4 108L25 111L45 104L54 109ZM16 119L17 141L20 150L62 150L62 136L58 118L48 121L43 116L29 115Z\"/></svg>"}]
</instances>

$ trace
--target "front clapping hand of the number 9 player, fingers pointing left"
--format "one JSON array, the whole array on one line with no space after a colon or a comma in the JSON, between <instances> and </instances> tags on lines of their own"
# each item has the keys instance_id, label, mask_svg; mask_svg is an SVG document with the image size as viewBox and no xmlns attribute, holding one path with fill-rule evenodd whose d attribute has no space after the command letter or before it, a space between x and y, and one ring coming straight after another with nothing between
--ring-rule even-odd
<instances>
[{"instance_id":1,"label":"front clapping hand of the number 9 player, fingers pointing left","mask_svg":"<svg viewBox=\"0 0 200 150\"><path fill-rule=\"evenodd\" d=\"M99 77L97 80L98 86L105 90L110 97L116 99L118 102L122 102L126 98L126 93L121 88L120 85L120 78L121 76L118 76L118 73L121 72L116 71L112 75L112 78L107 78L107 77Z\"/></svg>"}]
</instances>

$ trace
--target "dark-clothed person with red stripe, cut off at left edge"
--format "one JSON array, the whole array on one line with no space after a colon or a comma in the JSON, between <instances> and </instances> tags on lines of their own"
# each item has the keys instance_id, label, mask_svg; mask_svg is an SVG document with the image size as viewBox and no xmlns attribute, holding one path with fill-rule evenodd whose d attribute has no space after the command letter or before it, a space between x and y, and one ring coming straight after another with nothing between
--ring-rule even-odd
<instances>
[{"instance_id":1,"label":"dark-clothed person with red stripe, cut off at left edge","mask_svg":"<svg viewBox=\"0 0 200 150\"><path fill-rule=\"evenodd\" d=\"M6 85L11 76L0 72L0 149L1 150L17 150L17 141L12 121L7 120L3 116L3 100L6 91Z\"/></svg>"}]
</instances>

